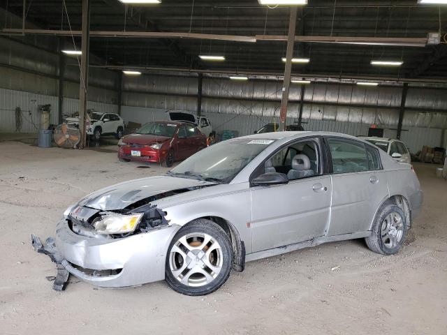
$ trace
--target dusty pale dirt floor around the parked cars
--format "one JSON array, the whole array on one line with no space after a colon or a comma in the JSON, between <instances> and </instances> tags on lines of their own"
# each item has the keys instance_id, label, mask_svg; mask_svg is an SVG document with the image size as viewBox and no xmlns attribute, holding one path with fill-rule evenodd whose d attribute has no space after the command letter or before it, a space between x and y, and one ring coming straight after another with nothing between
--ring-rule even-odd
<instances>
[{"instance_id":1,"label":"dusty pale dirt floor around the parked cars","mask_svg":"<svg viewBox=\"0 0 447 335\"><path fill-rule=\"evenodd\" d=\"M163 173L120 163L116 147L41 149L0 142L0 334L447 334L447 182L415 164L423 212L398 255L362 240L247 263L206 297L166 283L111 290L71 277L52 290L47 237L69 204L103 186Z\"/></svg>"}]
</instances>

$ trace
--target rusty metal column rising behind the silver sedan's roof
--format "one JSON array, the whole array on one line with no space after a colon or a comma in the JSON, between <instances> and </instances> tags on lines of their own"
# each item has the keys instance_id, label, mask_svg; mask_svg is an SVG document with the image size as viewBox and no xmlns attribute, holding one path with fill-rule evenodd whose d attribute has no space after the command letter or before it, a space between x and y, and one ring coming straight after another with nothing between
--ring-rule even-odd
<instances>
[{"instance_id":1,"label":"rusty metal column rising behind the silver sedan's roof","mask_svg":"<svg viewBox=\"0 0 447 335\"><path fill-rule=\"evenodd\" d=\"M291 7L291 17L288 22L286 68L284 70L284 84L282 87L281 113L279 114L279 131L284 131L286 128L288 90L290 89L291 84L293 43L295 42L296 13L297 8Z\"/></svg>"}]
</instances>

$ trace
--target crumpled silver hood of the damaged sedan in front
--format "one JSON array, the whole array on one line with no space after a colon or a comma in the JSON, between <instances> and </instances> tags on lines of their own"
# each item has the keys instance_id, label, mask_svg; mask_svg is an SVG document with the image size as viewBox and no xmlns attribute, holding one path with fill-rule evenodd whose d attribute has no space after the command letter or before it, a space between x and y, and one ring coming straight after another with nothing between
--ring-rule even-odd
<instances>
[{"instance_id":1,"label":"crumpled silver hood of the damaged sedan in front","mask_svg":"<svg viewBox=\"0 0 447 335\"><path fill-rule=\"evenodd\" d=\"M134 179L90 193L78 203L78 206L86 206L101 211L112 211L124 209L134 202L168 191L213 184L215 183L210 181L169 176Z\"/></svg>"}]
</instances>

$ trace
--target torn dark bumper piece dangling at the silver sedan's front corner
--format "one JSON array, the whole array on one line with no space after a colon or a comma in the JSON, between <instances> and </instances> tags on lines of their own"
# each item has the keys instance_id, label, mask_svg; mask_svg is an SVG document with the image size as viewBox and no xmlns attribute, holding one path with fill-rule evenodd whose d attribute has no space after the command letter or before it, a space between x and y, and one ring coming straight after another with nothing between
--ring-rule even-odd
<instances>
[{"instance_id":1,"label":"torn dark bumper piece dangling at the silver sedan's front corner","mask_svg":"<svg viewBox=\"0 0 447 335\"><path fill-rule=\"evenodd\" d=\"M62 256L57 252L56 244L52 237L48 237L45 241L45 246L42 244L41 239L36 235L31 234L31 244L33 248L38 253L45 253L45 255L50 256L51 260L56 263L57 276L53 283L53 290L63 291L68 283L68 278L70 277L70 272L62 264Z\"/></svg>"}]
</instances>

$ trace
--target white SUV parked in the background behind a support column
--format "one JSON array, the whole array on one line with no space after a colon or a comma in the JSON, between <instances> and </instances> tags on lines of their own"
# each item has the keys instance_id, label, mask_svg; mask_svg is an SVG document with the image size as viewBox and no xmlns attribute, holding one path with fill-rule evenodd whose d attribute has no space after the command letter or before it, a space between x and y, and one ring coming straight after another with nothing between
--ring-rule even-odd
<instances>
[{"instance_id":1,"label":"white SUV parked in the background behind a support column","mask_svg":"<svg viewBox=\"0 0 447 335\"><path fill-rule=\"evenodd\" d=\"M87 135L93 135L98 141L101 135L113 134L118 139L124 134L124 120L115 113L87 112L89 120L86 122ZM67 124L79 125L79 117L67 117Z\"/></svg>"}]
</instances>

